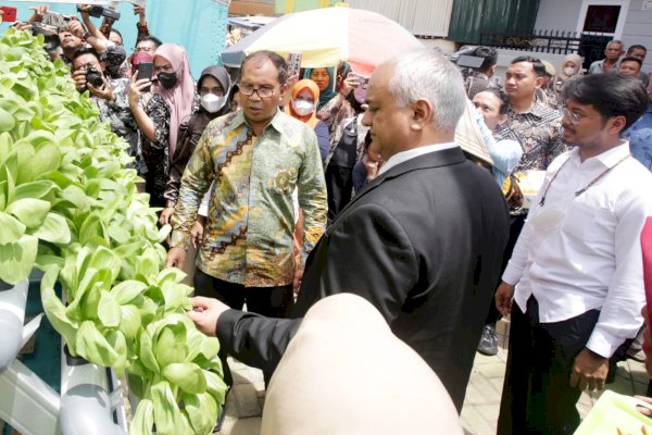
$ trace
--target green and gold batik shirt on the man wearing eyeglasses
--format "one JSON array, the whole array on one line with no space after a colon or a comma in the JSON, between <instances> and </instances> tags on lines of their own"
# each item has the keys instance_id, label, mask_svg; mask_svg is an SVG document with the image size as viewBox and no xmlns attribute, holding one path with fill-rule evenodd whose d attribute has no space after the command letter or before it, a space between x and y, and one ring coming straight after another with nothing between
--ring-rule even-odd
<instances>
[{"instance_id":1,"label":"green and gold batik shirt on the man wearing eyeglasses","mask_svg":"<svg viewBox=\"0 0 652 435\"><path fill-rule=\"evenodd\" d=\"M314 130L280 111L258 137L242 111L212 121L181 178L171 247L190 246L197 210L213 182L198 268L246 287L290 284L294 188L304 216L302 262L326 225L326 184Z\"/></svg>"}]
</instances>

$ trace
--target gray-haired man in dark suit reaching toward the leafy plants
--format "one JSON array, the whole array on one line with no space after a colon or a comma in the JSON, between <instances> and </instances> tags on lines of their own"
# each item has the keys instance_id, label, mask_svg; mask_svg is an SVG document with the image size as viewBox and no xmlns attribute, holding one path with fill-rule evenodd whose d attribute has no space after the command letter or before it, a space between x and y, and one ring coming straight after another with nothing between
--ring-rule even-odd
<instances>
[{"instance_id":1,"label":"gray-haired man in dark suit reaching toward the leafy plants","mask_svg":"<svg viewBox=\"0 0 652 435\"><path fill-rule=\"evenodd\" d=\"M273 370L317 300L353 293L430 365L460 411L499 277L507 206L491 175L454 142L466 92L441 53L419 49L380 64L365 102L362 123L385 163L311 252L294 319L209 298L192 299L188 315L240 361ZM341 385L342 394L351 388Z\"/></svg>"}]
</instances>

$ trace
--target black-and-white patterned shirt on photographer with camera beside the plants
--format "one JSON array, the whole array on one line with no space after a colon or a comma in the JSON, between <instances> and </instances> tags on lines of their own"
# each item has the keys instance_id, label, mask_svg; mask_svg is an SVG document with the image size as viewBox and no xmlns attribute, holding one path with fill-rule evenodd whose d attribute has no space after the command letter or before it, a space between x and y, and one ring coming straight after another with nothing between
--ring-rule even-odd
<instances>
[{"instance_id":1,"label":"black-and-white patterned shirt on photographer with camera beside the plants","mask_svg":"<svg viewBox=\"0 0 652 435\"><path fill-rule=\"evenodd\" d=\"M113 100L93 97L91 99L100 109L100 120L109 121L111 130L122 137L129 144L127 152L134 158L134 162L128 167L134 167L139 175L147 172L142 152L140 150L140 140L138 125L129 109L129 80L126 78L116 78L109 82L113 90Z\"/></svg>"}]
</instances>

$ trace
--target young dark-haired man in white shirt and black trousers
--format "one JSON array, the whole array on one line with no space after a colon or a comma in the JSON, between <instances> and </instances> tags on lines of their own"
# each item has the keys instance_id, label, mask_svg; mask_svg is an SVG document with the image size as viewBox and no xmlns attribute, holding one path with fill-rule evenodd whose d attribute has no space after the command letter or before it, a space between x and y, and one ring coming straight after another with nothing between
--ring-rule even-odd
<instances>
[{"instance_id":1,"label":"young dark-haired man in white shirt and black trousers","mask_svg":"<svg viewBox=\"0 0 652 435\"><path fill-rule=\"evenodd\" d=\"M496 295L511 313L498 434L573 434L576 402L641 326L641 231L652 174L620 139L647 109L636 80L593 74L564 88L564 140Z\"/></svg>"}]
</instances>

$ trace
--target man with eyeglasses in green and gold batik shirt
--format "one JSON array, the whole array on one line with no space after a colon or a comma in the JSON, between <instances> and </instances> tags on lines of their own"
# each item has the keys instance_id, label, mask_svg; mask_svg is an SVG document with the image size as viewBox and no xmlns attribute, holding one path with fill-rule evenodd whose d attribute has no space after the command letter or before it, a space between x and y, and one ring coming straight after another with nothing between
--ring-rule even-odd
<instances>
[{"instance_id":1,"label":"man with eyeglasses in green and gold batik shirt","mask_svg":"<svg viewBox=\"0 0 652 435\"><path fill-rule=\"evenodd\" d=\"M278 109L287 91L286 61L254 52L240 74L242 110L208 125L181 178L167 265L183 268L201 198L214 182L196 294L285 318L293 282L326 224L322 158L314 130ZM294 188L304 216L301 264L292 249Z\"/></svg>"}]
</instances>

